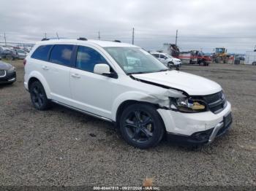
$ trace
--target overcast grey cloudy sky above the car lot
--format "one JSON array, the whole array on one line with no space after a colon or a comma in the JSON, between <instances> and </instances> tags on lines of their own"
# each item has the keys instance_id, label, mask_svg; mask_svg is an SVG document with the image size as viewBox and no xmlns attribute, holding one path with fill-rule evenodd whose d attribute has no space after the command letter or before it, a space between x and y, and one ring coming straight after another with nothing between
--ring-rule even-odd
<instances>
[{"instance_id":1,"label":"overcast grey cloudy sky above the car lot","mask_svg":"<svg viewBox=\"0 0 256 191\"><path fill-rule=\"evenodd\" d=\"M48 37L120 39L147 50L174 43L181 50L256 45L255 0L1 0L0 42L35 42Z\"/></svg>"}]
</instances>

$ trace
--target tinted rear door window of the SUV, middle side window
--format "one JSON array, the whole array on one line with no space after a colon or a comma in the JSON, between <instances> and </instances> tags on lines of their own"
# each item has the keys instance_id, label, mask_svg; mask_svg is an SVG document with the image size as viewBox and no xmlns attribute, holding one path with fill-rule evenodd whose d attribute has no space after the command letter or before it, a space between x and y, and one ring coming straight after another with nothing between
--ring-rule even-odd
<instances>
[{"instance_id":1,"label":"tinted rear door window of the SUV, middle side window","mask_svg":"<svg viewBox=\"0 0 256 191\"><path fill-rule=\"evenodd\" d=\"M71 66L71 56L73 47L74 46L70 44L54 45L53 50L50 52L50 62Z\"/></svg>"}]
</instances>

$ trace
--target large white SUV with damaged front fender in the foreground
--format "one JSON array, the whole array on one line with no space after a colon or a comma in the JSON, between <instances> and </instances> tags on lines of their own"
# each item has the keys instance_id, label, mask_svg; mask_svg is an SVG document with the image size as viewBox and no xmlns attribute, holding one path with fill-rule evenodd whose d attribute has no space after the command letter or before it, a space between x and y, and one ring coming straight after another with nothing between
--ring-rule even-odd
<instances>
[{"instance_id":1,"label":"large white SUV with damaged front fender in the foreground","mask_svg":"<svg viewBox=\"0 0 256 191\"><path fill-rule=\"evenodd\" d=\"M231 106L209 79L170 70L140 47L59 39L38 42L24 61L34 107L55 102L116 124L142 149L166 134L206 144L230 128Z\"/></svg>"}]
</instances>

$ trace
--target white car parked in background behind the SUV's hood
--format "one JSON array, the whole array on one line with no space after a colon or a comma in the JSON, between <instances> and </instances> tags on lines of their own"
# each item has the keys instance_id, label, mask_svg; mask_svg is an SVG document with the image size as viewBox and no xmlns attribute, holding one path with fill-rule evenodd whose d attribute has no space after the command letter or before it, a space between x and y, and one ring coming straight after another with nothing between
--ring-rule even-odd
<instances>
[{"instance_id":1,"label":"white car parked in background behind the SUV's hood","mask_svg":"<svg viewBox=\"0 0 256 191\"><path fill-rule=\"evenodd\" d=\"M154 55L159 61L165 64L165 66L170 67L181 67L181 60L174 58L171 55L162 52L151 52L151 55Z\"/></svg>"}]
</instances>

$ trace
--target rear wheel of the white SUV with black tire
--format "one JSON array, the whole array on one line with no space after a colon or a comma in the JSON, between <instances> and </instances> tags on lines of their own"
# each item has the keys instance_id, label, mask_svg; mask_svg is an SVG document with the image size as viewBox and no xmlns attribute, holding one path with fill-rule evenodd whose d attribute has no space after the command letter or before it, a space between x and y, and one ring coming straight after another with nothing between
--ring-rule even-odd
<instances>
[{"instance_id":1,"label":"rear wheel of the white SUV with black tire","mask_svg":"<svg viewBox=\"0 0 256 191\"><path fill-rule=\"evenodd\" d=\"M39 81L31 84L29 92L32 104L36 109L45 110L50 107L50 100L48 100L45 89Z\"/></svg>"}]
</instances>

